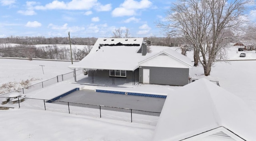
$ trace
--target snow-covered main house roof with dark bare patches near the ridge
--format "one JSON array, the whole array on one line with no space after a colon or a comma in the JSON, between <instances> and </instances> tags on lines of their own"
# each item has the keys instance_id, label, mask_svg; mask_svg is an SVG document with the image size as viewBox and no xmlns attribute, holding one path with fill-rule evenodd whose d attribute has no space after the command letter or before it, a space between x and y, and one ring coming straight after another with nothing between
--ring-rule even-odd
<instances>
[{"instance_id":1,"label":"snow-covered main house roof with dark bare patches near the ridge","mask_svg":"<svg viewBox=\"0 0 256 141\"><path fill-rule=\"evenodd\" d=\"M144 38L98 38L91 52L70 68L93 70L136 70L138 62L152 54L142 56L140 50ZM112 46L118 45L120 46ZM100 49L99 49L100 46Z\"/></svg>"}]
</instances>

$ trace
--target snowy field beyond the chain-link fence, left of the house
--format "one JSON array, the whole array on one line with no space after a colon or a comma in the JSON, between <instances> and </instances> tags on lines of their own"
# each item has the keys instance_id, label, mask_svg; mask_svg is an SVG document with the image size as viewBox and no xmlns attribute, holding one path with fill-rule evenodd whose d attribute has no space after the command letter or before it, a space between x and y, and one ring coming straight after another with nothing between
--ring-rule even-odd
<instances>
[{"instance_id":1,"label":"snowy field beyond the chain-link fence, left of the house","mask_svg":"<svg viewBox=\"0 0 256 141\"><path fill-rule=\"evenodd\" d=\"M29 85L32 85L73 71L67 67L71 65L71 62L62 61L29 61L0 58L0 64L0 87L2 85L0 94L4 93L8 87L12 87L12 90L25 87L22 82L26 80L28 80ZM3 86L3 84L6 85Z\"/></svg>"}]
</instances>

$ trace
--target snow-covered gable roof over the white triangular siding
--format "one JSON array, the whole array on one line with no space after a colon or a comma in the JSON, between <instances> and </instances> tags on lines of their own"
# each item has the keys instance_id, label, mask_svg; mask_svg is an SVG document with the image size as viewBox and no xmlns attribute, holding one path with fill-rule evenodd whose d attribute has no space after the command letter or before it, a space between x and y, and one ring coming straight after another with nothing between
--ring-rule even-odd
<instances>
[{"instance_id":1,"label":"snow-covered gable roof over the white triangular siding","mask_svg":"<svg viewBox=\"0 0 256 141\"><path fill-rule=\"evenodd\" d=\"M150 59L152 59L152 58L154 58L154 57L156 57L156 56L158 56L162 53L170 56L171 58L174 58L175 60L178 60L179 62L181 62L183 64L186 64L189 67L192 67L192 62L191 62L190 58L176 52L175 50L172 50L171 48L164 49L161 52L159 52L158 54L156 54L154 56L151 56L150 58L147 58L147 59L139 62L139 64L142 64L143 62L146 62L146 61L148 61L148 60L150 60Z\"/></svg>"}]
</instances>

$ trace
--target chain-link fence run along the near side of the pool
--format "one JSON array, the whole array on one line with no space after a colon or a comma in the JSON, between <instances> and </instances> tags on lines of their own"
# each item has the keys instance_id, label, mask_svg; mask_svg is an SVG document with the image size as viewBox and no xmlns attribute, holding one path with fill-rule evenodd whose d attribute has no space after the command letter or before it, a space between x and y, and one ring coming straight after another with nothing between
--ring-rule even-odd
<instances>
[{"instance_id":1,"label":"chain-link fence run along the near side of the pool","mask_svg":"<svg viewBox=\"0 0 256 141\"><path fill-rule=\"evenodd\" d=\"M2 100L5 97L0 97ZM51 101L51 102L47 102ZM39 109L61 113L69 113L74 115L84 115L87 117L112 119L118 121L126 121L131 123L140 123L156 126L160 112L142 111L136 109L111 107L104 105L93 105L84 103L73 103L56 100L25 98L24 102L10 105L9 107L17 107L21 109Z\"/></svg>"}]
</instances>

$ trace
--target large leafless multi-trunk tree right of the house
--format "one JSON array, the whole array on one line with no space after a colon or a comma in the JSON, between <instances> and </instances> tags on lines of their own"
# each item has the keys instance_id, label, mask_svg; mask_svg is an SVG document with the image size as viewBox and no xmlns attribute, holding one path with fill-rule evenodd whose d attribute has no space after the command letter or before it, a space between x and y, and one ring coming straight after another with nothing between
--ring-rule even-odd
<instances>
[{"instance_id":1,"label":"large leafless multi-trunk tree right of the house","mask_svg":"<svg viewBox=\"0 0 256 141\"><path fill-rule=\"evenodd\" d=\"M167 12L168 22L158 27L186 38L194 47L194 61L199 60L208 76L224 41L238 36L247 22L242 17L250 4L251 0L179 0ZM233 34L227 36L225 30Z\"/></svg>"}]
</instances>

